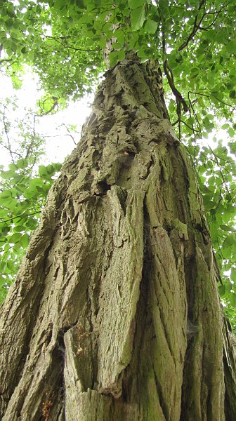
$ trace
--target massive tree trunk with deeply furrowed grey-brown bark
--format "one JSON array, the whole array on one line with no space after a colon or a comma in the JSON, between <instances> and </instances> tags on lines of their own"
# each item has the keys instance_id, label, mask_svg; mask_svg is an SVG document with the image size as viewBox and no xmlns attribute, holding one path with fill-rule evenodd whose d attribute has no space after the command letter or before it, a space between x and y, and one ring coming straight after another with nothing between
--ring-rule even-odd
<instances>
[{"instance_id":1,"label":"massive tree trunk with deeply furrowed grey-brown bark","mask_svg":"<svg viewBox=\"0 0 236 421\"><path fill-rule=\"evenodd\" d=\"M4 421L236 419L195 174L157 67L107 72L1 309Z\"/></svg>"}]
</instances>

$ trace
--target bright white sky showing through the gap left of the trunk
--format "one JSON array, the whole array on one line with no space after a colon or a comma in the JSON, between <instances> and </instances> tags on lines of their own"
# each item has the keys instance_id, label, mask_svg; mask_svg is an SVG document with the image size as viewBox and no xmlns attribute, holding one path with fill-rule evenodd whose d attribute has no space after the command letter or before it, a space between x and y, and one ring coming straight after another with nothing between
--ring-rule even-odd
<instances>
[{"instance_id":1,"label":"bright white sky showing through the gap left of the trunk","mask_svg":"<svg viewBox=\"0 0 236 421\"><path fill-rule=\"evenodd\" d=\"M0 101L4 102L6 98L16 95L20 107L12 114L15 116L24 115L24 108L32 108L35 110L37 99L41 98L42 91L39 89L39 80L32 71L22 76L22 87L18 90L13 89L11 79L0 74ZM91 113L90 105L93 97L83 98L77 102L70 102L67 109L59 111L53 115L43 116L39 118L37 123L37 132L45 137L46 154L41 159L41 163L48 164L51 162L63 162L65 157L72 152L75 145L79 142L81 127L86 117ZM68 126L76 126L76 132L70 132L74 141L68 135ZM1 148L1 146L0 146ZM8 155L1 148L0 164L8 166Z\"/></svg>"}]
</instances>

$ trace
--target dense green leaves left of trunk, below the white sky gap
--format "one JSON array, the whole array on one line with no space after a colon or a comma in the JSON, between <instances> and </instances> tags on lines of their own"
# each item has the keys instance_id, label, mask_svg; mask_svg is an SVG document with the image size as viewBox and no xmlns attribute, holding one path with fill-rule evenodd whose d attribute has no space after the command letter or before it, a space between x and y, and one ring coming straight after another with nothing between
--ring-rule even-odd
<instances>
[{"instance_id":1,"label":"dense green leaves left of trunk, below the white sky gap","mask_svg":"<svg viewBox=\"0 0 236 421\"><path fill-rule=\"evenodd\" d=\"M6 296L29 236L39 224L39 215L46 201L60 163L39 166L32 173L27 159L10 163L0 170L0 301Z\"/></svg>"}]
</instances>

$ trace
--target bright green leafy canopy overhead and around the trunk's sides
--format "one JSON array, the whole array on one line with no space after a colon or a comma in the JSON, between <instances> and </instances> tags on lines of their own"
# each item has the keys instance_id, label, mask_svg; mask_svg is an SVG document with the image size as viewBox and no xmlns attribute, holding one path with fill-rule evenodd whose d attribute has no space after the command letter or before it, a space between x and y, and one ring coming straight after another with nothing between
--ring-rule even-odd
<instances>
[{"instance_id":1,"label":"bright green leafy canopy overhead and around the trunk's sides","mask_svg":"<svg viewBox=\"0 0 236 421\"><path fill-rule=\"evenodd\" d=\"M222 268L221 298L236 323L235 0L2 0L0 16L1 66L16 87L24 64L34 68L49 95L46 112L55 101L76 100L93 90L105 70L103 50L111 39L111 67L130 50L142 62L159 62L173 128L188 148L199 178ZM218 128L223 140L214 132ZM211 132L215 146L207 140ZM28 177L27 165L17 161L1 173L0 200L6 199L5 205L0 203L1 212L10 196L20 200L20 206L34 199L30 189L30 198L20 199L24 183L20 196L16 192L20 179L15 177ZM29 181L30 188L47 190L44 175L39 171L39 177ZM11 227L14 215L8 214ZM6 232L2 222L1 231ZM8 247L8 237L3 238Z\"/></svg>"}]
</instances>

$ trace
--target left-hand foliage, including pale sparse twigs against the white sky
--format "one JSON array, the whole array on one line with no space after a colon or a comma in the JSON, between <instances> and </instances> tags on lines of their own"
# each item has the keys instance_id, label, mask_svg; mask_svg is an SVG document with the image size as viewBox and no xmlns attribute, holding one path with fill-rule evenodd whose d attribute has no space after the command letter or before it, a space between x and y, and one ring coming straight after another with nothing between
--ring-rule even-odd
<instances>
[{"instance_id":1,"label":"left-hand foliage, including pale sparse twigs against the white sky","mask_svg":"<svg viewBox=\"0 0 236 421\"><path fill-rule=\"evenodd\" d=\"M0 146L11 163L0 167L0 302L6 296L29 234L37 227L48 190L60 171L60 163L37 168L44 154L44 138L37 133L37 116L30 109L22 118L11 121L16 98L0 103Z\"/></svg>"}]
</instances>

